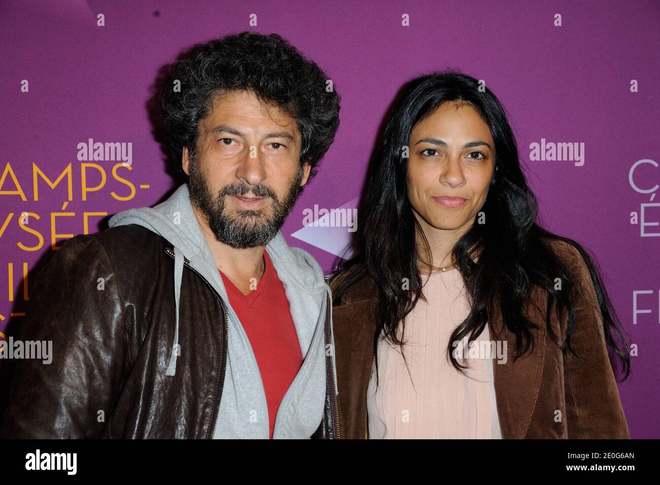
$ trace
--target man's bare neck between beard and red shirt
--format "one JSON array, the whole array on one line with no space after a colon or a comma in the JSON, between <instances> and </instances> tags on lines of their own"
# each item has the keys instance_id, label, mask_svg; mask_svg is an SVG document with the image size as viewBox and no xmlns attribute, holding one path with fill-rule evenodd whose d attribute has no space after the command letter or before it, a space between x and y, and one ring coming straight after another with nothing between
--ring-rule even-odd
<instances>
[{"instance_id":1,"label":"man's bare neck between beard and red shirt","mask_svg":"<svg viewBox=\"0 0 660 485\"><path fill-rule=\"evenodd\" d=\"M265 245L237 249L220 242L216 240L206 218L197 210L194 204L193 212L195 212L199 227L209 245L217 269L222 271L243 294L248 294L254 288L254 284L261 281L261 276L265 271L263 259ZM255 279L252 280L251 278Z\"/></svg>"}]
</instances>

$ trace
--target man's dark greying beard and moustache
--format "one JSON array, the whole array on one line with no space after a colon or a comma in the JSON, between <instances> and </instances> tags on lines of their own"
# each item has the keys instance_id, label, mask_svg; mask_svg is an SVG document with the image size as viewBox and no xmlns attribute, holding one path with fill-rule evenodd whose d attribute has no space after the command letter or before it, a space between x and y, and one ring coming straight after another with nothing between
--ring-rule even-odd
<instances>
[{"instance_id":1,"label":"man's dark greying beard and moustache","mask_svg":"<svg viewBox=\"0 0 660 485\"><path fill-rule=\"evenodd\" d=\"M302 176L303 170L300 166L298 174L289 185L282 201L277 198L277 194L270 187L250 185L245 182L227 185L214 197L206 177L195 166L194 154L191 154L189 189L193 204L206 216L209 228L216 240L238 249L245 249L265 245L275 238L284 224L286 216L298 200ZM270 217L268 216L271 211L269 207L253 210L236 209L236 214L233 216L225 213L225 196L242 196L249 191L255 197L270 197L273 200L271 205L273 214Z\"/></svg>"}]
</instances>

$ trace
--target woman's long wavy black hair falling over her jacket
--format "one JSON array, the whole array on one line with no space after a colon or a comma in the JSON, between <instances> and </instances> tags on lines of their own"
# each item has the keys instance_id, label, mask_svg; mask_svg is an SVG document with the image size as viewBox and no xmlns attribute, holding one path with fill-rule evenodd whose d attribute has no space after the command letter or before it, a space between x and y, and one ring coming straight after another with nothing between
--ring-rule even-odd
<instances>
[{"instance_id":1,"label":"woman's long wavy black hair falling over her jacket","mask_svg":"<svg viewBox=\"0 0 660 485\"><path fill-rule=\"evenodd\" d=\"M495 142L495 166L498 168L494 170L488 197L481 209L486 224L475 222L452 251L453 262L469 292L471 311L449 338L447 355L451 364L459 372L467 368L457 362L451 342L463 341L468 335L470 341L477 339L492 317L496 303L500 306L506 329L515 335L514 360L525 354L530 346L533 351L530 329L537 325L523 317L525 306L532 300L533 286L545 290L548 295L546 328L559 346L562 345L550 326L552 305L555 305L559 321L562 321L563 312L568 311L566 345L562 350L564 359L567 350L576 355L571 347L571 334L576 325L577 300L585 298L585 293L583 288L578 288L575 275L562 257L550 248L549 242L554 240L576 247L583 257L603 317L605 341L620 359L625 372L623 379L626 379L630 373L628 344L595 259L579 243L552 234L537 224L537 199L521 171L517 144L504 108L488 88L480 90L479 82L473 77L446 71L408 82L400 92L399 101L393 104L381 143L376 146L370 162L352 257L339 265L339 271L331 281L335 304L341 302L343 294L363 278L376 282L373 345L377 382L380 337L401 346L403 354L405 316L419 298L426 301L418 264L424 261L424 255L430 255L430 247L409 203L406 188L408 158L403 156L403 147L409 145L416 123L445 102L467 102L484 119ZM416 235L422 236L422 248L426 251L418 249ZM471 257L475 253L479 254L477 263ZM406 278L409 290L402 290ZM562 282L559 290L555 289L555 278Z\"/></svg>"}]
</instances>

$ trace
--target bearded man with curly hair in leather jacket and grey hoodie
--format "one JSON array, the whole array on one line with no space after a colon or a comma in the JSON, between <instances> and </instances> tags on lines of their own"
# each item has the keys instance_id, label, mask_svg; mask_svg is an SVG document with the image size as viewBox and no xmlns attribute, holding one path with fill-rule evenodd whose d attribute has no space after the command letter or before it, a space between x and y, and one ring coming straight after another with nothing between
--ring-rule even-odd
<instances>
[{"instance_id":1,"label":"bearded man with curly hair in leather jacket and grey hoodie","mask_svg":"<svg viewBox=\"0 0 660 485\"><path fill-rule=\"evenodd\" d=\"M339 125L327 85L276 34L172 66L163 128L187 182L38 275L20 333L53 362L18 362L3 437L335 437L329 287L279 232Z\"/></svg>"}]
</instances>

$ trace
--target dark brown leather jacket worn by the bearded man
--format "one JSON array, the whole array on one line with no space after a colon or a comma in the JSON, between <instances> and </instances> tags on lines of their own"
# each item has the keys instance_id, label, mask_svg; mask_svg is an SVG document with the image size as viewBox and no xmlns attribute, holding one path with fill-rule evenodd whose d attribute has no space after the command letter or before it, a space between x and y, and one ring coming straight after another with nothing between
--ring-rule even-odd
<instances>
[{"instance_id":1,"label":"dark brown leather jacket worn by the bearded man","mask_svg":"<svg viewBox=\"0 0 660 485\"><path fill-rule=\"evenodd\" d=\"M63 243L35 280L18 337L52 340L52 362L16 360L0 437L212 438L228 354L226 310L185 261L179 343L192 350L163 379L157 370L166 366L175 325L173 272L168 241L135 224ZM329 325L328 317L326 342ZM326 363L325 411L312 436L319 438L336 429L331 356Z\"/></svg>"}]
</instances>

